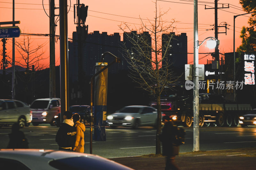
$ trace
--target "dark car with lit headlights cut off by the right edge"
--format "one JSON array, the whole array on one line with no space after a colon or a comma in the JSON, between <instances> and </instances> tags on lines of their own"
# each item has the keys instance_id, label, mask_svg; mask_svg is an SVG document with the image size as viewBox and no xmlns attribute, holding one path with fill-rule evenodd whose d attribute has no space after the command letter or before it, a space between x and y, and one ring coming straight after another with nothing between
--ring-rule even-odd
<instances>
[{"instance_id":1,"label":"dark car with lit headlights cut off by the right edge","mask_svg":"<svg viewBox=\"0 0 256 170\"><path fill-rule=\"evenodd\" d=\"M242 127L256 125L256 109L252 109L247 114L239 117L239 124Z\"/></svg>"}]
</instances>

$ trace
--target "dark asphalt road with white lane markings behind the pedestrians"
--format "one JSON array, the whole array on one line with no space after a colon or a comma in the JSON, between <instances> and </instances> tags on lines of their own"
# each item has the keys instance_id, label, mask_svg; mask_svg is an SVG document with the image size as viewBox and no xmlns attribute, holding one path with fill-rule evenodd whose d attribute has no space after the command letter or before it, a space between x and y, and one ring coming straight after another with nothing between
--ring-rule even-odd
<instances>
[{"instance_id":1,"label":"dark asphalt road with white lane markings behind the pedestrians","mask_svg":"<svg viewBox=\"0 0 256 170\"><path fill-rule=\"evenodd\" d=\"M58 127L48 124L29 126L21 129L28 138L29 148L58 149L55 135ZM193 150L193 127L186 130L185 144L180 146L180 153ZM11 127L0 129L0 148L6 148ZM86 128L85 153L90 151L90 133ZM107 141L92 141L92 153L105 158L140 156L155 153L156 129L141 127L140 129L118 128L106 129ZM255 127L202 127L199 132L200 151L236 149L254 147L256 145Z\"/></svg>"}]
</instances>

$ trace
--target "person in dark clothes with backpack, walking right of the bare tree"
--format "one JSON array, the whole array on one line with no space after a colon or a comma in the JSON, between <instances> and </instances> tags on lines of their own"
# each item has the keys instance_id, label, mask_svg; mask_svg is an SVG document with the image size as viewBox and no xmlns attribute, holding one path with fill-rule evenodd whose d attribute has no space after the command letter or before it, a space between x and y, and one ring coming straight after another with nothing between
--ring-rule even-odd
<instances>
[{"instance_id":1,"label":"person in dark clothes with backpack, walking right of the bare tree","mask_svg":"<svg viewBox=\"0 0 256 170\"><path fill-rule=\"evenodd\" d=\"M163 155L166 156L165 170L179 170L174 164L174 158L179 154L179 146L175 145L175 137L178 133L177 126L174 126L169 116L163 116L164 128L160 135L163 144Z\"/></svg>"}]
</instances>

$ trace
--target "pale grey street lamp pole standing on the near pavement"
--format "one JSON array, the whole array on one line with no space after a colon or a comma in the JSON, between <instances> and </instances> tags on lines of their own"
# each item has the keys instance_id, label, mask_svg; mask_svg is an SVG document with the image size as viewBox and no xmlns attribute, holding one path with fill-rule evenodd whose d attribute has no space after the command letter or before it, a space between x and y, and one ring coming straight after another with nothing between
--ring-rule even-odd
<instances>
[{"instance_id":1,"label":"pale grey street lamp pole standing on the near pavement","mask_svg":"<svg viewBox=\"0 0 256 170\"><path fill-rule=\"evenodd\" d=\"M194 100L193 100L193 152L199 151L199 93L198 93L198 14L197 0L194 0L194 65L193 65L193 82Z\"/></svg>"}]
</instances>

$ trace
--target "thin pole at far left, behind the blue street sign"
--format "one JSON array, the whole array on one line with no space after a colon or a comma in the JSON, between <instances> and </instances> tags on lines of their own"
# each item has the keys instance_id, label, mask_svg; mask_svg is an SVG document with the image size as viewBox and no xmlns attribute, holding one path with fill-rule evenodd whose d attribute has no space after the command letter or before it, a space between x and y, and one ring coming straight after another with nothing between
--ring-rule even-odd
<instances>
[{"instance_id":1,"label":"thin pole at far left, behind the blue street sign","mask_svg":"<svg viewBox=\"0 0 256 170\"><path fill-rule=\"evenodd\" d=\"M12 26L14 23L14 0L12 0ZM15 99L15 38L12 38L12 100Z\"/></svg>"}]
</instances>

